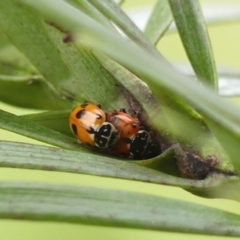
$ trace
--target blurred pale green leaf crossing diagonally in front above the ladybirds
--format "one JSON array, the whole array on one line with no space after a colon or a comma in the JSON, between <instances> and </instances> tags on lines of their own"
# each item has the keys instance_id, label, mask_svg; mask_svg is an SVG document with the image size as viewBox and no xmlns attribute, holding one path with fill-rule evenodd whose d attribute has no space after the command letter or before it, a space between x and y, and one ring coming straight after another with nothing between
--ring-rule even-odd
<instances>
[{"instance_id":1,"label":"blurred pale green leaf crossing diagonally in front above the ladybirds","mask_svg":"<svg viewBox=\"0 0 240 240\"><path fill-rule=\"evenodd\" d=\"M182 97L190 105L198 109L204 117L222 126L227 131L229 137L236 144L239 144L239 109L221 99L207 87L199 87L197 83L174 70L165 61L160 61L144 49L119 38L119 36L115 36L80 11L70 7L67 3L62 1L48 2L44 0L37 2L22 0L21 2L38 9L48 19L52 19L69 29L76 44L91 45L118 60L120 63L127 65L137 75L145 76L144 79L156 97L159 94L159 86ZM58 5L57 9L55 8L56 5ZM79 31L81 34L79 34ZM161 122L158 113L149 112L149 116L153 120L153 123L158 126ZM228 149L226 151L239 171L238 149L234 150L234 154Z\"/></svg>"}]
</instances>

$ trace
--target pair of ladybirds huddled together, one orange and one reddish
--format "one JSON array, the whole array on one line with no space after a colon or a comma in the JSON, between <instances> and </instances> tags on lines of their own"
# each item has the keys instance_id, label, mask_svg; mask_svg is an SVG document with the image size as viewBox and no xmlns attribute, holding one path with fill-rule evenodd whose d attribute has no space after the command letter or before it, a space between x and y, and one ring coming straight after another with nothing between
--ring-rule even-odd
<instances>
[{"instance_id":1,"label":"pair of ladybirds huddled together, one orange and one reddish","mask_svg":"<svg viewBox=\"0 0 240 240\"><path fill-rule=\"evenodd\" d=\"M108 148L117 155L134 159L151 155L153 144L149 133L124 109L104 113L100 106L87 103L74 108L69 121L72 132L84 144Z\"/></svg>"}]
</instances>

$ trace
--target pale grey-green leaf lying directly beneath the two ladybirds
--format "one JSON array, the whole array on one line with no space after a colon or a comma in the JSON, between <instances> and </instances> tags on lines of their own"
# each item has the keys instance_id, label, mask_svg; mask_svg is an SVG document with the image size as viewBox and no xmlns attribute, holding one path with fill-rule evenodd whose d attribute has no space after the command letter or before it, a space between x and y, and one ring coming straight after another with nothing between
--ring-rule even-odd
<instances>
[{"instance_id":1,"label":"pale grey-green leaf lying directly beneath the two ladybirds","mask_svg":"<svg viewBox=\"0 0 240 240\"><path fill-rule=\"evenodd\" d=\"M74 172L153 183L186 184L190 181L111 157L33 144L0 141L0 166ZM95 153L97 153L95 151ZM179 182L180 181L180 182Z\"/></svg>"}]
</instances>

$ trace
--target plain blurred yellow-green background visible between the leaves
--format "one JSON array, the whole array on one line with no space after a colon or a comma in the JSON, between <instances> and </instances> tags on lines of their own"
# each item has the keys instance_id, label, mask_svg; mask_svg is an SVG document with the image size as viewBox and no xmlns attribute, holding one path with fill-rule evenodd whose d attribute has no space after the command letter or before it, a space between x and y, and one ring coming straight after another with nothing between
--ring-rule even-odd
<instances>
[{"instance_id":1,"label":"plain blurred yellow-green background visible between the leaves","mask_svg":"<svg viewBox=\"0 0 240 240\"><path fill-rule=\"evenodd\" d=\"M125 5L130 13L148 8L149 4L155 1L128 1ZM239 8L239 0L204 0L201 1L203 6L223 4L232 5ZM209 34L212 41L212 47L216 59L217 66L232 67L238 70L240 68L240 22L233 22L221 25L209 26ZM166 34L158 45L159 50L169 60L174 62L186 62L187 57L181 45L181 41L176 32ZM240 69L239 69L240 70ZM238 104L237 98L232 98ZM33 110L25 110L15 108L4 103L0 103L0 108L10 111L17 115L37 112ZM0 130L0 139L9 141L21 141L35 144L42 144L37 141ZM180 188L160 186L156 184L147 184L126 180L116 180L111 178L94 177L80 174L46 172L37 170L18 170L18 169L0 169L0 180L12 181L39 181L54 182L61 184L89 185L98 187L109 187L124 189L130 191L144 192L155 195L161 195L170 198L182 199L185 201L204 204L220 209L225 209L240 214L240 203L230 200L221 199L203 199L196 197ZM74 224L60 224L47 222L28 222L28 221L10 221L0 220L1 239L4 240L48 240L48 239L220 239L215 236L203 236L193 234L166 233L157 231L135 230L135 229L118 229L108 227L92 227ZM224 239L230 239L224 237Z\"/></svg>"}]
</instances>

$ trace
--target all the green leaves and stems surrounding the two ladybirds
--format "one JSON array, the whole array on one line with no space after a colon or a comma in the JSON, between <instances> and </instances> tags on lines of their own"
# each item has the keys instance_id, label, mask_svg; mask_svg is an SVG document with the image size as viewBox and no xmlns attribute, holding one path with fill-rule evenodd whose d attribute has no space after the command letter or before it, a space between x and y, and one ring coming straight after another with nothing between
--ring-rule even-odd
<instances>
[{"instance_id":1,"label":"all the green leaves and stems surrounding the two ladybirds","mask_svg":"<svg viewBox=\"0 0 240 240\"><path fill-rule=\"evenodd\" d=\"M172 19L199 82L173 69L154 46ZM162 183L203 197L240 200L235 191L240 113L215 91L216 67L198 1L158 1L142 33L110 0L0 0L0 32L1 101L50 110L22 117L0 111L0 127L68 149L1 142L1 167ZM84 101L101 103L104 110L127 108L123 90L154 128L177 144L143 161L119 161L78 146L68 128L71 108ZM216 157L215 174L204 180L176 176L174 161L181 165L189 149L202 160ZM1 218L239 236L238 215L157 196L26 183L2 183L0 192ZM19 205L6 212L12 198ZM39 211L32 211L33 205Z\"/></svg>"}]
</instances>

